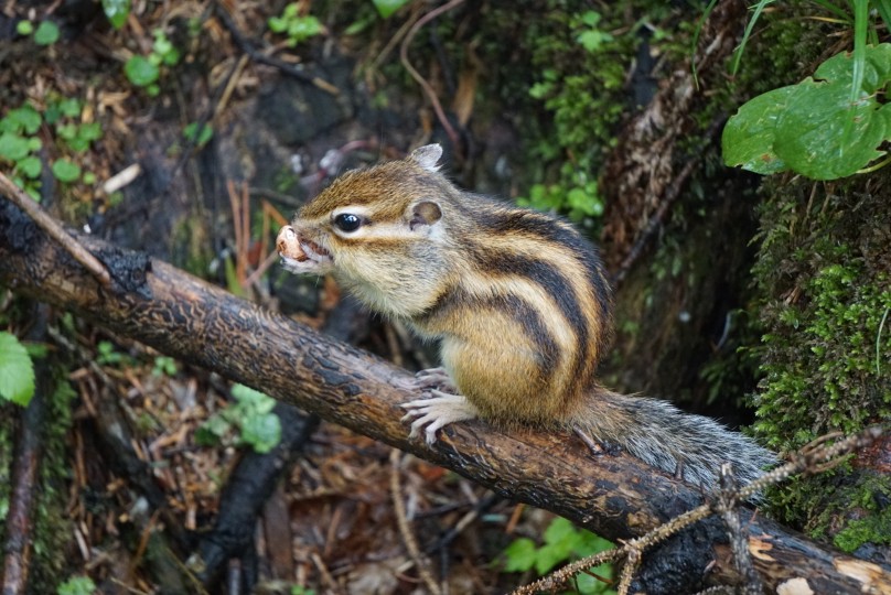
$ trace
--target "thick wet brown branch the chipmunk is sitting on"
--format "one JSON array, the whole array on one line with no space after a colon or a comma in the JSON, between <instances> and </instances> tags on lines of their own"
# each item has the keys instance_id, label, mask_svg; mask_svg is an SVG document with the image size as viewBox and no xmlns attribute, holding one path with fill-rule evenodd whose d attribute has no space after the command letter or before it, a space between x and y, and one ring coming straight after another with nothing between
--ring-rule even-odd
<instances>
[{"instance_id":1,"label":"thick wet brown branch the chipmunk is sitting on","mask_svg":"<svg viewBox=\"0 0 891 595\"><path fill-rule=\"evenodd\" d=\"M408 440L399 403L417 398L402 369L261 310L170 264L72 234L114 279L104 289L17 207L0 199L0 283L214 370L351 430L450 468L495 493L609 539L644 534L702 504L690 486L620 455L592 456L567 434L449 426L432 447ZM772 589L887 593L891 569L796 534L743 508L748 548ZM686 593L739 580L720 520L644 554L634 591Z\"/></svg>"}]
</instances>

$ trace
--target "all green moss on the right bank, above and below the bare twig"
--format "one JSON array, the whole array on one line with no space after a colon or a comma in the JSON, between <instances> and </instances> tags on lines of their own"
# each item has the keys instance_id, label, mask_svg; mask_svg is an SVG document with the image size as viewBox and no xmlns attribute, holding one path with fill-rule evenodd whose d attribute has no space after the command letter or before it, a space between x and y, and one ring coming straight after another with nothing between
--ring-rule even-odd
<instances>
[{"instance_id":1,"label":"all green moss on the right bank, above and below the bare twig","mask_svg":"<svg viewBox=\"0 0 891 595\"><path fill-rule=\"evenodd\" d=\"M889 177L765 181L753 271L765 329L754 347L763 372L755 429L776 450L891 420L891 212L883 194L865 192ZM784 521L850 551L888 534L888 512L863 502L889 493L891 478L849 465L796 478L770 498Z\"/></svg>"}]
</instances>

